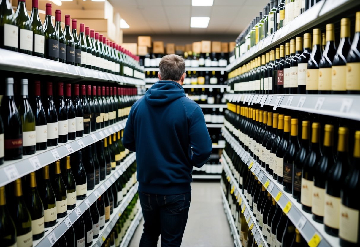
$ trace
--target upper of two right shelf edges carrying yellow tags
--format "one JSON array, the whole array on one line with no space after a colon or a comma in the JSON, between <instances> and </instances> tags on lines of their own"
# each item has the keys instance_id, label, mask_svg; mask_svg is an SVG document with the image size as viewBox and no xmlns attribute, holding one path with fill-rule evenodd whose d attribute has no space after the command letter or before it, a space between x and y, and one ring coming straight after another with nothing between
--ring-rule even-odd
<instances>
[{"instance_id":1,"label":"upper of two right shelf edges carrying yellow tags","mask_svg":"<svg viewBox=\"0 0 360 247\"><path fill-rule=\"evenodd\" d=\"M291 194L286 193L283 189L283 185L278 184L273 177L270 176L265 169L256 162L256 160L253 160L250 154L248 154L233 138L233 136L230 135L228 130L223 128L222 133L231 147L234 148L235 152L237 152L242 161L251 168L251 171L258 177L259 181L265 186L271 196L276 198L280 193L282 194L277 203L282 209L290 206L287 216L300 231L306 242L309 242L315 234L318 234L321 239L318 247L339 245L339 238L325 233L323 224L315 222L312 219L311 214L302 211L301 204L298 203L296 199L292 198Z\"/></svg>"}]
</instances>

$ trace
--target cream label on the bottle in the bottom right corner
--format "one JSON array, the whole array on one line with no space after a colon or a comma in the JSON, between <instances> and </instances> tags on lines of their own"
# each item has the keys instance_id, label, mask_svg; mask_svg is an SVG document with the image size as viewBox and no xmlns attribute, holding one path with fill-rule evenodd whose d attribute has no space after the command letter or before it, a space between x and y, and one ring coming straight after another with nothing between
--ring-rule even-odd
<instances>
[{"instance_id":1,"label":"cream label on the bottle in the bottom right corner","mask_svg":"<svg viewBox=\"0 0 360 247\"><path fill-rule=\"evenodd\" d=\"M359 210L340 205L339 237L357 244L359 233Z\"/></svg>"}]
</instances>

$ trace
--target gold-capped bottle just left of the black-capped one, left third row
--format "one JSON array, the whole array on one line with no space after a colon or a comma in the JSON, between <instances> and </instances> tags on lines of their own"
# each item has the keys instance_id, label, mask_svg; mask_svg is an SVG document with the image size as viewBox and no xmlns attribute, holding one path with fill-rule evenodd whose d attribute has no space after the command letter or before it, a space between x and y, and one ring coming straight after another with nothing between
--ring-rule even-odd
<instances>
[{"instance_id":1,"label":"gold-capped bottle just left of the black-capped one, left third row","mask_svg":"<svg viewBox=\"0 0 360 247\"><path fill-rule=\"evenodd\" d=\"M63 181L66 186L66 205L67 210L71 210L76 207L76 182L71 171L70 156L65 157L64 170Z\"/></svg>"}]
</instances>

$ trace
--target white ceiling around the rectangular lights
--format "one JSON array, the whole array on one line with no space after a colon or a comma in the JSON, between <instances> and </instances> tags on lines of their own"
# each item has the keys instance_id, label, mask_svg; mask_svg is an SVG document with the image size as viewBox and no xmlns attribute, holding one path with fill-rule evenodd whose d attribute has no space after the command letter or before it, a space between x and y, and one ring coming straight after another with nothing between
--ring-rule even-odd
<instances>
[{"instance_id":1,"label":"white ceiling around the rectangular lights","mask_svg":"<svg viewBox=\"0 0 360 247\"><path fill-rule=\"evenodd\" d=\"M125 35L238 35L269 0L214 0L213 6L192 6L191 0L109 1L130 26ZM190 28L190 17L210 17L210 22L207 28Z\"/></svg>"}]
</instances>

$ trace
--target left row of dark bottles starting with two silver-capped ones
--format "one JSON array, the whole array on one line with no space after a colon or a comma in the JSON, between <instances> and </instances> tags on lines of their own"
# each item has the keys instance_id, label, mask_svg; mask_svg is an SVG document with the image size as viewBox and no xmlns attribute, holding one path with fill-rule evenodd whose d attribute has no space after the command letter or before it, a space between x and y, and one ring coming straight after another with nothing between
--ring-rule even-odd
<instances>
[{"instance_id":1,"label":"left row of dark bottles starting with two silver-capped ones","mask_svg":"<svg viewBox=\"0 0 360 247\"><path fill-rule=\"evenodd\" d=\"M53 83L47 82L41 90L40 81L30 84L35 90L29 96L28 84L22 79L15 84L20 90L14 94L14 80L6 78L0 105L0 164L4 159L20 159L124 120L138 98L136 88L112 86L81 85L79 94L78 84L66 84L64 97L62 82L54 89Z\"/></svg>"}]
</instances>

